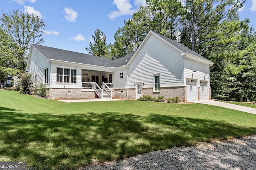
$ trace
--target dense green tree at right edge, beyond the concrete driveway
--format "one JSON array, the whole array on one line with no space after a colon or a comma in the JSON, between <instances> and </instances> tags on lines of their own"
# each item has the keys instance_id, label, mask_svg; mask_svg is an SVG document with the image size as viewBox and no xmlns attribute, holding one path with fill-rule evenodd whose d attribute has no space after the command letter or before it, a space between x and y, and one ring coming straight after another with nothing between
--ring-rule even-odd
<instances>
[{"instance_id":1,"label":"dense green tree at right edge, beyond the concrete driveway","mask_svg":"<svg viewBox=\"0 0 256 170\"><path fill-rule=\"evenodd\" d=\"M230 58L226 65L226 72L234 83L230 84L230 96L241 102L256 101L256 32L243 30L241 40L233 45L233 50L247 50L243 57Z\"/></svg>"}]
</instances>

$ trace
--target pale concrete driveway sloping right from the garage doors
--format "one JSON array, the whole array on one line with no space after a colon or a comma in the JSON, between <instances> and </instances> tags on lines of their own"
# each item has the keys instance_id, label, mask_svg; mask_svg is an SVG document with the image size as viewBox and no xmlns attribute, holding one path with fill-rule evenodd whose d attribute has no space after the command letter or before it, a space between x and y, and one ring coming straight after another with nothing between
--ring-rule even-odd
<instances>
[{"instance_id":1,"label":"pale concrete driveway sloping right from the garage doors","mask_svg":"<svg viewBox=\"0 0 256 170\"><path fill-rule=\"evenodd\" d=\"M254 109L252 107L239 106L237 104L229 104L229 103L225 103L225 102L218 102L215 100L198 100L198 101L189 101L189 102L208 104L208 105L212 105L212 106L226 107L228 109L234 109L234 110L244 111L247 113L256 114L256 109Z\"/></svg>"}]
</instances>

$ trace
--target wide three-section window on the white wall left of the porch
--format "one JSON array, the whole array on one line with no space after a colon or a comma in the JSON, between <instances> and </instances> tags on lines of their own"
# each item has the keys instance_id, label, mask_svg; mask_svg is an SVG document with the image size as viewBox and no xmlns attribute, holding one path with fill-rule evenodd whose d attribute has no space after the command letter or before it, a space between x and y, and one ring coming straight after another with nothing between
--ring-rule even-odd
<instances>
[{"instance_id":1,"label":"wide three-section window on the white wall left of the porch","mask_svg":"<svg viewBox=\"0 0 256 170\"><path fill-rule=\"evenodd\" d=\"M76 70L57 68L57 82L76 83Z\"/></svg>"}]
</instances>

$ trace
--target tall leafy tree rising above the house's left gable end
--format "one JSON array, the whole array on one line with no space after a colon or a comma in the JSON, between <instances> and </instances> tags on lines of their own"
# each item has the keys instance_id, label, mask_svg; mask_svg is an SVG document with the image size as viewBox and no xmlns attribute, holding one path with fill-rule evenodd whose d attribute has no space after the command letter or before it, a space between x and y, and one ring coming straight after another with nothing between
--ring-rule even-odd
<instances>
[{"instance_id":1,"label":"tall leafy tree rising above the house's left gable end","mask_svg":"<svg viewBox=\"0 0 256 170\"><path fill-rule=\"evenodd\" d=\"M41 44L44 42L42 38L46 26L44 21L34 14L24 14L20 10L12 10L10 14L2 13L0 23L2 29L12 37L12 42L20 47L15 52L18 55L17 68L25 70L30 43Z\"/></svg>"}]
</instances>

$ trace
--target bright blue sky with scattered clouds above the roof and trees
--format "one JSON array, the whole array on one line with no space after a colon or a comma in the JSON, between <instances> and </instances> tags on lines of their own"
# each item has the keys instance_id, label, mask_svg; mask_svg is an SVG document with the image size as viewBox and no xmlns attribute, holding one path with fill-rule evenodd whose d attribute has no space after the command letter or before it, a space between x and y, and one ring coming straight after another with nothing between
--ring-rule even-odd
<instances>
[{"instance_id":1,"label":"bright blue sky with scattered clouds above the roof and trees","mask_svg":"<svg viewBox=\"0 0 256 170\"><path fill-rule=\"evenodd\" d=\"M42 45L88 53L85 47L89 47L96 29L106 34L107 43L113 43L118 27L145 4L146 0L1 0L0 11L34 13L47 26ZM247 0L239 16L240 20L249 18L255 28L256 0Z\"/></svg>"}]
</instances>

